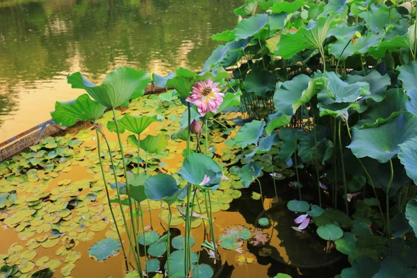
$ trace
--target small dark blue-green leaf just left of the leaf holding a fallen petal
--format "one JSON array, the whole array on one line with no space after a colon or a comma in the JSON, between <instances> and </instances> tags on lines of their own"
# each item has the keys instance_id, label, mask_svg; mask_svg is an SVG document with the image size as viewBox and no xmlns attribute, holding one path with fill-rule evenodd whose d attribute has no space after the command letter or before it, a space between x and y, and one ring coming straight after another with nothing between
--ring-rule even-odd
<instances>
[{"instance_id":1,"label":"small dark blue-green leaf just left of the leaf holding a fallen petal","mask_svg":"<svg viewBox=\"0 0 417 278\"><path fill-rule=\"evenodd\" d=\"M177 201L179 193L177 181L169 174L156 174L145 181L145 195L154 201L171 204Z\"/></svg>"}]
</instances>

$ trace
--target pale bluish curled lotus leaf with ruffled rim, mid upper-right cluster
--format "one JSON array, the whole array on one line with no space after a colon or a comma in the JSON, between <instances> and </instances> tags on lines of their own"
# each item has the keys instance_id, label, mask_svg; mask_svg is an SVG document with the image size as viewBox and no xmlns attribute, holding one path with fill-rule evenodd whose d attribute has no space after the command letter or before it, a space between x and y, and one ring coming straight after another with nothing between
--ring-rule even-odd
<instances>
[{"instance_id":1,"label":"pale bluish curled lotus leaf with ruffled rim, mid upper-right cluster","mask_svg":"<svg viewBox=\"0 0 417 278\"><path fill-rule=\"evenodd\" d=\"M325 90L335 102L353 102L361 95L370 94L370 86L366 82L349 84L338 78L334 72L326 72L323 76L327 77L328 81L322 90Z\"/></svg>"}]
</instances>

